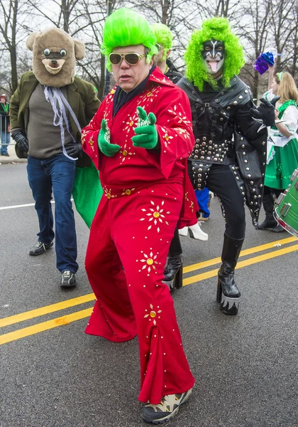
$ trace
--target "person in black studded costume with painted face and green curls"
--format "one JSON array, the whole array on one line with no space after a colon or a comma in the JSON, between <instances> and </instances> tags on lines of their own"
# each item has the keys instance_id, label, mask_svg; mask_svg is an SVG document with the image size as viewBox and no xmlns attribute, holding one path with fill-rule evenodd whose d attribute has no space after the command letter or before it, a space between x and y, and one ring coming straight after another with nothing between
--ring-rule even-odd
<instances>
[{"instance_id":1,"label":"person in black studded costume with painted face and green curls","mask_svg":"<svg viewBox=\"0 0 298 427\"><path fill-rule=\"evenodd\" d=\"M221 201L226 231L217 301L223 313L236 315L241 294L234 270L245 237L244 201L257 226L266 126L274 123L274 107L263 100L256 110L248 86L237 77L244 65L243 48L227 19L204 21L202 29L192 33L184 58L186 77L177 85L189 97L196 138L189 175L194 189L207 186Z\"/></svg>"}]
</instances>

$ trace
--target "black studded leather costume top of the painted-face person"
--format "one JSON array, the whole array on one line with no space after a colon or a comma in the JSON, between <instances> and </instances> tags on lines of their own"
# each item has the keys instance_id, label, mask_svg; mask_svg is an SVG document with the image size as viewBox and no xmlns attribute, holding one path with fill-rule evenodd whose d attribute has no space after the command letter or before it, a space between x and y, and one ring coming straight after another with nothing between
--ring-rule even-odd
<instances>
[{"instance_id":1,"label":"black studded leather costume top of the painted-face person","mask_svg":"<svg viewBox=\"0 0 298 427\"><path fill-rule=\"evenodd\" d=\"M265 175L267 130L260 130L250 114L254 107L248 88L236 75L228 88L199 92L183 77L180 88L192 108L196 144L189 157L189 175L194 189L203 189L212 164L231 165L239 189L256 224Z\"/></svg>"}]
</instances>

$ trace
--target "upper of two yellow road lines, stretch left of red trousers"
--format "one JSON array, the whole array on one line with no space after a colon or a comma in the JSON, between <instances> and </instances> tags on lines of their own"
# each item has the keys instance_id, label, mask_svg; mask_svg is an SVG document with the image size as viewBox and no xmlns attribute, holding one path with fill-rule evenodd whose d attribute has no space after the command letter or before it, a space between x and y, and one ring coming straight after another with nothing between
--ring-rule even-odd
<instances>
[{"instance_id":1,"label":"upper of two yellow road lines, stretch left of red trousers","mask_svg":"<svg viewBox=\"0 0 298 427\"><path fill-rule=\"evenodd\" d=\"M74 307L75 305L84 304L84 302L89 302L92 300L95 300L94 293L83 295L82 297L72 298L71 300L57 302L56 304L46 305L45 307L36 308L35 310L23 312L18 315L4 317L4 319L0 319L0 327L13 325L13 323L23 322L24 320L33 319L34 317L48 315L49 313L53 313L58 310L64 310L68 307Z\"/></svg>"}]
</instances>

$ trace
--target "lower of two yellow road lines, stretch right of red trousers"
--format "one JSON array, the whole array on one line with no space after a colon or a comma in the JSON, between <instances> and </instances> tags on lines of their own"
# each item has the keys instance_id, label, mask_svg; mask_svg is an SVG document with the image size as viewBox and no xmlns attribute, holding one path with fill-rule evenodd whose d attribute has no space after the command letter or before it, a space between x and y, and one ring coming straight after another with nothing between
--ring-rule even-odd
<instances>
[{"instance_id":1,"label":"lower of two yellow road lines, stretch right of red trousers","mask_svg":"<svg viewBox=\"0 0 298 427\"><path fill-rule=\"evenodd\" d=\"M285 255L285 253L290 253L294 251L298 251L298 245L288 246L287 248L280 249L279 251L264 253L263 255L258 255L253 258L249 258L248 260L239 261L236 268L243 268L247 265L260 263L262 261L270 260L271 258L275 258L280 255ZM216 270L206 271L206 273L197 274L190 278L184 279L182 282L183 286L190 285L191 283L200 282L201 280L214 278L217 275L218 271L219 269L216 268Z\"/></svg>"}]
</instances>

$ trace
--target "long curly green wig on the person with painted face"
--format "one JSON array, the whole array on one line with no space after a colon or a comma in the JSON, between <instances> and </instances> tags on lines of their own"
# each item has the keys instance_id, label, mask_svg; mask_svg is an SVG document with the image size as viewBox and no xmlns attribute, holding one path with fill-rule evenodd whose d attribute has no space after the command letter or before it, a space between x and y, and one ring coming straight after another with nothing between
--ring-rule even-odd
<instances>
[{"instance_id":1,"label":"long curly green wig on the person with painted face","mask_svg":"<svg viewBox=\"0 0 298 427\"><path fill-rule=\"evenodd\" d=\"M203 43L212 38L224 43L225 54L221 79L224 88L229 85L233 75L238 74L245 63L243 48L238 37L231 31L228 19L219 17L207 19L202 23L201 30L192 33L184 55L185 74L199 90L203 90L204 81L207 81L214 89L218 89L217 82L207 73L202 57Z\"/></svg>"}]
</instances>

